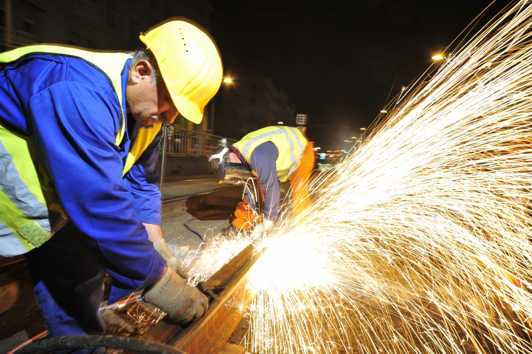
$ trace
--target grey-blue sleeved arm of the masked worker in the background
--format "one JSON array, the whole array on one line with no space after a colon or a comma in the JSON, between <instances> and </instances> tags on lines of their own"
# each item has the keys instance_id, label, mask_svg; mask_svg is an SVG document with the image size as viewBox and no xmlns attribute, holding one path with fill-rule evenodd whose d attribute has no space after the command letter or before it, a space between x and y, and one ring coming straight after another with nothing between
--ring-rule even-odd
<instances>
[{"instance_id":1,"label":"grey-blue sleeved arm of the masked worker in the background","mask_svg":"<svg viewBox=\"0 0 532 354\"><path fill-rule=\"evenodd\" d=\"M277 146L272 142L265 142L255 147L250 156L250 167L256 172L259 185L264 191L262 213L264 218L272 221L275 221L279 213L281 195L275 163L278 155Z\"/></svg>"}]
</instances>

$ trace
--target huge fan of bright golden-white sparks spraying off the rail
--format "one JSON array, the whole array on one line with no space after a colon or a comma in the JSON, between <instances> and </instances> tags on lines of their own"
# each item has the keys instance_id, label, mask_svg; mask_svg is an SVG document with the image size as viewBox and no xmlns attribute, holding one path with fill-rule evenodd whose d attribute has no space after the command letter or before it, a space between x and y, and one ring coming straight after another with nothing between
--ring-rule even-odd
<instances>
[{"instance_id":1,"label":"huge fan of bright golden-white sparks spraying off the rail","mask_svg":"<svg viewBox=\"0 0 532 354\"><path fill-rule=\"evenodd\" d=\"M304 215L210 243L193 282L268 248L248 350L532 353L531 63L519 1L316 179Z\"/></svg>"}]
</instances>

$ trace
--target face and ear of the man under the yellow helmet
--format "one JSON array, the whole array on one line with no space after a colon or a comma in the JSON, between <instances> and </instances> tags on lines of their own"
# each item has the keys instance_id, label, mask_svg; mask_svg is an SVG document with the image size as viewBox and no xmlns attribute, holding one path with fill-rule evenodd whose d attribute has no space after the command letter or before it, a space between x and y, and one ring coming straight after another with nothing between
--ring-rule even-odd
<instances>
[{"instance_id":1,"label":"face and ear of the man under the yellow helmet","mask_svg":"<svg viewBox=\"0 0 532 354\"><path fill-rule=\"evenodd\" d=\"M139 60L129 72L126 87L126 105L128 113L140 124L152 126L156 121L173 123L178 111L170 98L166 85L153 85L152 65Z\"/></svg>"}]
</instances>

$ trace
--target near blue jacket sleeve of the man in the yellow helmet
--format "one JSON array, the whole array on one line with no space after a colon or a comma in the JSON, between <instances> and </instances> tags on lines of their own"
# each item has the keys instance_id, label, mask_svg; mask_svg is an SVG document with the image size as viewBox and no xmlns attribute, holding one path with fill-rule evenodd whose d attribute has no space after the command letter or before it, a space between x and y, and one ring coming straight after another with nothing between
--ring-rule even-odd
<instances>
[{"instance_id":1,"label":"near blue jacket sleeve of the man in the yellow helmet","mask_svg":"<svg viewBox=\"0 0 532 354\"><path fill-rule=\"evenodd\" d=\"M113 286L131 292L153 284L165 261L122 186L122 159L114 144L117 103L111 88L61 81L30 98L28 125L66 216L111 274Z\"/></svg>"}]
</instances>

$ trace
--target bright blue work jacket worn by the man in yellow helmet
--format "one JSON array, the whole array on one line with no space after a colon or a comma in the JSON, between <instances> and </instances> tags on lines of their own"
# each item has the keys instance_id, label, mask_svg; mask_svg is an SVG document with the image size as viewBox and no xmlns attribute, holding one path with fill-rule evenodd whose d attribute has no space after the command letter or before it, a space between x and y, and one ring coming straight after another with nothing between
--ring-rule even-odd
<instances>
[{"instance_id":1,"label":"bright blue work jacket worn by the man in yellow helmet","mask_svg":"<svg viewBox=\"0 0 532 354\"><path fill-rule=\"evenodd\" d=\"M166 264L143 225L161 225L155 184L161 133L122 178L138 128L132 117L124 119L117 146L118 98L103 73L82 59L34 54L0 67L0 121L34 140L66 216L113 277L110 302L154 283Z\"/></svg>"}]
</instances>

